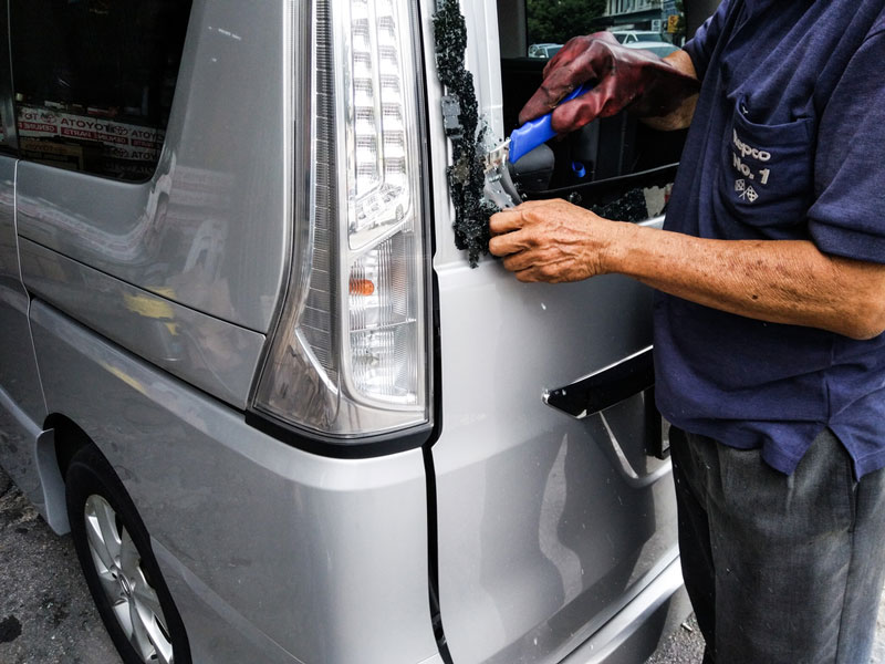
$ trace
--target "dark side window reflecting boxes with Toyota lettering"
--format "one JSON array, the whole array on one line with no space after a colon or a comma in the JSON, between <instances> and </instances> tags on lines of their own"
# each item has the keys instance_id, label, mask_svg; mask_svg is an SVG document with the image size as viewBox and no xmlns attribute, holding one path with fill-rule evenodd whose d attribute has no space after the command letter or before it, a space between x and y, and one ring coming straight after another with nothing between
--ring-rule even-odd
<instances>
[{"instance_id":1,"label":"dark side window reflecting boxes with Toyota lettering","mask_svg":"<svg viewBox=\"0 0 885 664\"><path fill-rule=\"evenodd\" d=\"M10 0L21 156L149 178L189 14L190 0Z\"/></svg>"}]
</instances>

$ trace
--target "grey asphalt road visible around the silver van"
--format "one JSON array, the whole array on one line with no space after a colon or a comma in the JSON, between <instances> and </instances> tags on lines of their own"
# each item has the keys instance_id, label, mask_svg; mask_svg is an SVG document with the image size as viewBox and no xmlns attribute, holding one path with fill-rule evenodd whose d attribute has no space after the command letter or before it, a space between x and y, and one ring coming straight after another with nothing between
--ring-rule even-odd
<instances>
[{"instance_id":1,"label":"grey asphalt road visible around the silver van","mask_svg":"<svg viewBox=\"0 0 885 664\"><path fill-rule=\"evenodd\" d=\"M689 620L646 664L700 664ZM118 664L70 536L58 537L0 469L0 664ZM885 664L885 604L872 661Z\"/></svg>"}]
</instances>

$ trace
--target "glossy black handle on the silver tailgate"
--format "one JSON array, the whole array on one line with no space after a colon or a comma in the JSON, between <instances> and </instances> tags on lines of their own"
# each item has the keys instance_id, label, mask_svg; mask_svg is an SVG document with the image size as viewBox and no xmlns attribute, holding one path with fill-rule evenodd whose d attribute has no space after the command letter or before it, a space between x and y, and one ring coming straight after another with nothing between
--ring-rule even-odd
<instances>
[{"instance_id":1,"label":"glossy black handle on the silver tailgate","mask_svg":"<svg viewBox=\"0 0 885 664\"><path fill-rule=\"evenodd\" d=\"M655 384L653 346L610 364L570 385L546 390L544 403L583 419Z\"/></svg>"}]
</instances>

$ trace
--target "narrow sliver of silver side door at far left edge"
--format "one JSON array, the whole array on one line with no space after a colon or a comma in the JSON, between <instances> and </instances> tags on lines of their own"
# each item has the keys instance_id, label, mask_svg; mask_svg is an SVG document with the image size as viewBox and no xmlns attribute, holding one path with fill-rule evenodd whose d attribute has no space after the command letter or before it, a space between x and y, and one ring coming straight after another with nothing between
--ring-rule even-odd
<instances>
[{"instance_id":1,"label":"narrow sliver of silver side door at far left edge","mask_svg":"<svg viewBox=\"0 0 885 664\"><path fill-rule=\"evenodd\" d=\"M28 324L15 235L18 129L12 107L7 2L0 2L0 466L42 509L34 440L46 416Z\"/></svg>"}]
</instances>

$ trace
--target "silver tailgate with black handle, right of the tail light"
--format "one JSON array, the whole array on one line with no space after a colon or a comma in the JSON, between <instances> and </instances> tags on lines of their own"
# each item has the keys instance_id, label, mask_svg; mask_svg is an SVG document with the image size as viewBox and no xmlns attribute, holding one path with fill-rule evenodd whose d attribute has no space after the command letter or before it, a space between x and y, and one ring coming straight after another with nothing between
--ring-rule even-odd
<instances>
[{"instance_id":1,"label":"silver tailgate with black handle, right of the tail light","mask_svg":"<svg viewBox=\"0 0 885 664\"><path fill-rule=\"evenodd\" d=\"M483 0L460 7L479 106L501 137L508 107L498 11L509 12L502 25L518 25L524 13ZM431 27L425 29L433 43ZM524 43L533 41L540 40L529 34ZM670 465L648 390L652 291L620 276L524 284L491 258L470 269L455 249L440 175L448 158L435 113L441 91L433 80L429 87L441 624L456 663L559 662L677 557ZM600 131L617 137L623 156L626 125L606 126ZM655 173L671 179L673 169ZM654 188L643 174L617 175L639 190ZM574 188L572 198L595 186Z\"/></svg>"}]
</instances>

